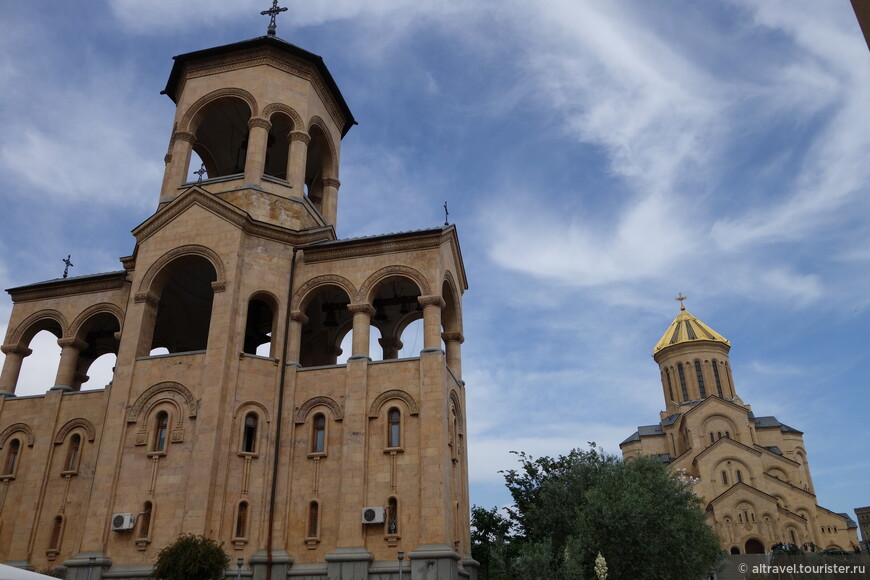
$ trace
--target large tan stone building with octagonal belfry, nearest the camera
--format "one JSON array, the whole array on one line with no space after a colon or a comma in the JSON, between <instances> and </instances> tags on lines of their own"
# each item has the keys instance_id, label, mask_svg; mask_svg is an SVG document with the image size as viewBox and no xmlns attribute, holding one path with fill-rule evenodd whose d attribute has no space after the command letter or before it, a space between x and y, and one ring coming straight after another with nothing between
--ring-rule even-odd
<instances>
[{"instance_id":1,"label":"large tan stone building with octagonal belfry, nearest the camera","mask_svg":"<svg viewBox=\"0 0 870 580\"><path fill-rule=\"evenodd\" d=\"M456 228L337 237L356 121L274 26L176 56L163 92L165 173L132 255L8 290L0 562L145 578L190 533L233 577L476 578ZM17 397L42 331L55 383ZM106 353L111 383L82 390Z\"/></svg>"}]
</instances>

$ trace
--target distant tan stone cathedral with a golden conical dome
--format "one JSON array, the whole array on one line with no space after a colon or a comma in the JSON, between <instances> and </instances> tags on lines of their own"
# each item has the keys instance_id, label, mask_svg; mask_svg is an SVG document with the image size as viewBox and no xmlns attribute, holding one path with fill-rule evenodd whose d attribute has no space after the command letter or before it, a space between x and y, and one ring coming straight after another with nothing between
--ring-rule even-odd
<instances>
[{"instance_id":1,"label":"distant tan stone cathedral with a golden conical dome","mask_svg":"<svg viewBox=\"0 0 870 580\"><path fill-rule=\"evenodd\" d=\"M694 482L707 523L731 554L761 554L779 543L853 549L857 524L816 503L803 433L756 416L740 399L731 343L686 311L684 298L653 349L665 410L620 443L623 457L654 455Z\"/></svg>"}]
</instances>

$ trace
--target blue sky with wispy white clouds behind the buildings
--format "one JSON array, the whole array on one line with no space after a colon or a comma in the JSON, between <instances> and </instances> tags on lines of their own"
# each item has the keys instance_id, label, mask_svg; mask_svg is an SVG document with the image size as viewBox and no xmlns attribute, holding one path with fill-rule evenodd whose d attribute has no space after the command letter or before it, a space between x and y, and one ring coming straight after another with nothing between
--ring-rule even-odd
<instances>
[{"instance_id":1,"label":"blue sky with wispy white clouds behind the buildings","mask_svg":"<svg viewBox=\"0 0 870 580\"><path fill-rule=\"evenodd\" d=\"M264 34L268 5L4 6L2 288L67 254L120 269L157 204L171 57ZM805 432L820 504L870 504L870 53L848 2L288 6L279 36L359 121L339 236L436 226L444 201L459 228L473 503L509 501L510 450L618 452L657 421L682 292L743 400Z\"/></svg>"}]
</instances>

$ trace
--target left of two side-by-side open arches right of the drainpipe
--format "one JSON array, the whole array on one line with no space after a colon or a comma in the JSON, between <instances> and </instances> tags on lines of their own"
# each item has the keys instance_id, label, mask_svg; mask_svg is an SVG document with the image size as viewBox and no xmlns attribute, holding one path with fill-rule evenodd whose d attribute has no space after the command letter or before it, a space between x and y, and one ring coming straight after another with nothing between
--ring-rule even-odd
<instances>
[{"instance_id":1,"label":"left of two side-by-side open arches right of the drainpipe","mask_svg":"<svg viewBox=\"0 0 870 580\"><path fill-rule=\"evenodd\" d=\"M306 300L307 322L302 327L299 363L303 367L338 364L345 335L351 334L350 298L339 286L325 285ZM344 352L350 353L350 346Z\"/></svg>"}]
</instances>

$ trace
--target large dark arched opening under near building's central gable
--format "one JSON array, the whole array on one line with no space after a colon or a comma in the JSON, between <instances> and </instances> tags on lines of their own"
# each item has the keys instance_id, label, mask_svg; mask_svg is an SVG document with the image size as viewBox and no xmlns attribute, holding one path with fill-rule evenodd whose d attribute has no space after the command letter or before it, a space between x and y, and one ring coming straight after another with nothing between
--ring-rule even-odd
<instances>
[{"instance_id":1,"label":"large dark arched opening under near building's central gable","mask_svg":"<svg viewBox=\"0 0 870 580\"><path fill-rule=\"evenodd\" d=\"M205 350L214 301L214 266L200 256L175 260L161 272L160 301L150 352L166 348L170 354Z\"/></svg>"}]
</instances>

